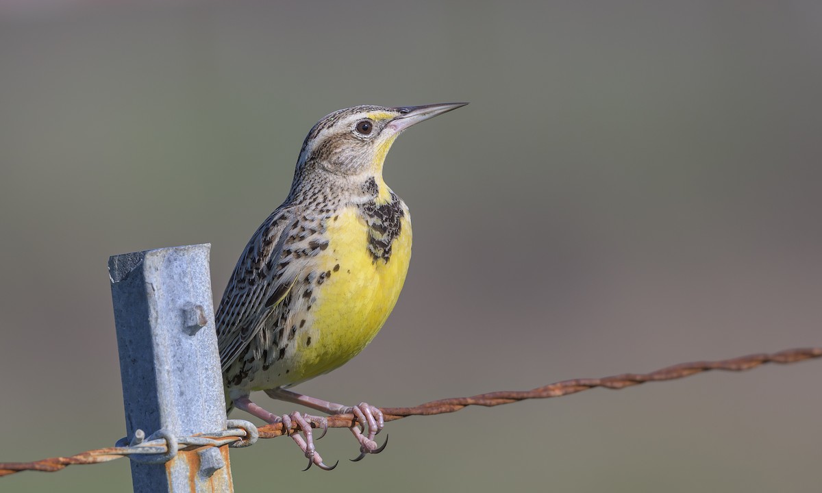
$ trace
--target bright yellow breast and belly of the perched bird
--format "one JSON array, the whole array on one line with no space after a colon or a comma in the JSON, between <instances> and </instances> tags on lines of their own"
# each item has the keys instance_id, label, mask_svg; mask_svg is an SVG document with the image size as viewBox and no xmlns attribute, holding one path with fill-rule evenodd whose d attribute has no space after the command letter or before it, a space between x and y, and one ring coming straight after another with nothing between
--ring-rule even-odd
<instances>
[{"instance_id":1,"label":"bright yellow breast and belly of the perched bird","mask_svg":"<svg viewBox=\"0 0 822 493\"><path fill-rule=\"evenodd\" d=\"M368 250L368 225L354 207L329 219L328 247L316 257L324 275L314 290L310 326L295 341L291 385L321 375L362 351L386 323L405 282L411 259L411 221L406 211L390 258Z\"/></svg>"}]
</instances>

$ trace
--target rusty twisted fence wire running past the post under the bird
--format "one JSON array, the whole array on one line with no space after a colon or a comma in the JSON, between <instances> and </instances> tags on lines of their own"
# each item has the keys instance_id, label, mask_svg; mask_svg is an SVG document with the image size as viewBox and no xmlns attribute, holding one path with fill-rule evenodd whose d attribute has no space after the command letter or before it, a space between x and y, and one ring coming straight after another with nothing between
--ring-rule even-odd
<instances>
[{"instance_id":1,"label":"rusty twisted fence wire running past the post under the bird","mask_svg":"<svg viewBox=\"0 0 822 493\"><path fill-rule=\"evenodd\" d=\"M492 407L501 404L515 403L525 399L548 399L576 394L577 392L594 389L596 387L618 390L646 382L685 378L686 376L692 376L703 371L746 371L764 365L765 363L788 364L817 357L822 357L822 348L787 349L772 354L750 354L748 356L713 362L681 363L679 365L667 366L657 371L651 371L650 373L624 373L622 375L606 376L604 378L563 380L531 390L489 392L472 397L439 399L420 404L413 408L381 408L381 410L386 421L395 421L409 416L432 416L446 412L457 412L468 406ZM104 463L121 457L140 460L134 458L134 456L137 455L145 455L146 458L142 459L144 462L164 462L165 460L173 458L174 455L177 454L178 449L192 450L206 446L219 447L223 445L244 447L253 445L257 436L259 438L275 438L284 435L283 425L281 423L261 426L259 428L250 422L242 420L229 420L228 423L229 430L219 431L217 433L173 437L164 431L158 431L154 435L151 435L146 441L142 441L141 437L132 440L132 445L88 450L80 454L72 455L71 457L44 458L39 461L27 463L0 463L0 477L21 471L54 472L67 468L70 465ZM334 416L328 417L328 426L330 428L350 428L356 426L356 424L353 414L335 414ZM299 431L299 426L296 422L293 423L291 431ZM124 443L123 440L118 442L118 445L122 443ZM179 445L184 446L180 447Z\"/></svg>"}]
</instances>

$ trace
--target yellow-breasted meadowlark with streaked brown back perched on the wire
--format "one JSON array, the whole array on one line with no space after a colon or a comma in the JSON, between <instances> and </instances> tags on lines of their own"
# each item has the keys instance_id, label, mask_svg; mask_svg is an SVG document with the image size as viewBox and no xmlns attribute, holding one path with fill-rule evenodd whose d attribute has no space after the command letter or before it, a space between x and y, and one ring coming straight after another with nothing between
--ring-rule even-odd
<instances>
[{"instance_id":1,"label":"yellow-breasted meadowlark with streaked brown back perched on the wire","mask_svg":"<svg viewBox=\"0 0 822 493\"><path fill-rule=\"evenodd\" d=\"M351 429L360 444L355 460L381 451L379 408L286 388L348 362L386 322L411 258L408 207L382 179L386 154L406 128L465 104L354 106L322 118L302 143L289 196L257 228L225 288L216 324L229 411L298 422L304 438L292 438L307 468L336 466L326 466L313 443L310 423L325 434L326 419L277 416L249 394L265 390L322 412L353 412L363 427Z\"/></svg>"}]
</instances>

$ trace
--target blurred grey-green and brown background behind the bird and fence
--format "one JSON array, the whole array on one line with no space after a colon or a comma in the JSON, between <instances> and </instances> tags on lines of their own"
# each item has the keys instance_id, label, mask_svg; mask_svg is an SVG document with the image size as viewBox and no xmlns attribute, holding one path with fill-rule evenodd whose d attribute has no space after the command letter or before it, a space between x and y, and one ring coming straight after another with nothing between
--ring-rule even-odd
<instances>
[{"instance_id":1,"label":"blurred grey-green and brown background behind the bird and fence","mask_svg":"<svg viewBox=\"0 0 822 493\"><path fill-rule=\"evenodd\" d=\"M219 300L303 136L402 136L383 332L298 387L384 406L822 343L819 2L0 2L0 461L124 434L109 255L212 244ZM237 491L812 491L819 362L232 453ZM259 396L261 402L282 412ZM242 413L238 413L242 417ZM131 491L129 464L2 491Z\"/></svg>"}]
</instances>

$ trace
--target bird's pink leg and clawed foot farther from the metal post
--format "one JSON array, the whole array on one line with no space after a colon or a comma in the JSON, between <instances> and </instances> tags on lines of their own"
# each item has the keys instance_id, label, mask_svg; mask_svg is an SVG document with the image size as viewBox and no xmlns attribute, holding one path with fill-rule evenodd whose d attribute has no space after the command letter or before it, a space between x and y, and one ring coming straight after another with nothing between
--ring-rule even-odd
<instances>
[{"instance_id":1,"label":"bird's pink leg and clawed foot farther from the metal post","mask_svg":"<svg viewBox=\"0 0 822 493\"><path fill-rule=\"evenodd\" d=\"M374 437L379 433L386 422L383 419L382 411L368 403L359 403L357 406L344 406L343 404L331 403L326 400L316 399L307 395L297 394L286 389L269 389L266 394L272 399L284 400L289 403L302 404L307 408L316 409L317 411L327 412L329 414L348 414L353 413L357 417L357 422L363 427L360 430L357 426L351 428L351 432L360 444L360 454L357 461L365 457L365 454L379 454L386 448L386 443L382 446L376 445ZM367 430L367 435L363 432Z\"/></svg>"}]
</instances>

